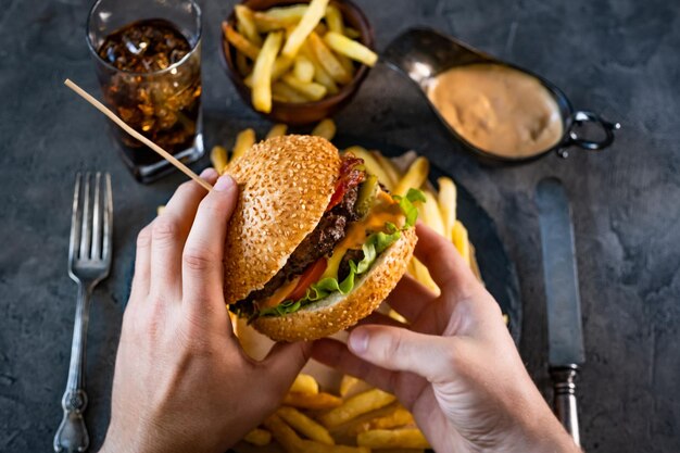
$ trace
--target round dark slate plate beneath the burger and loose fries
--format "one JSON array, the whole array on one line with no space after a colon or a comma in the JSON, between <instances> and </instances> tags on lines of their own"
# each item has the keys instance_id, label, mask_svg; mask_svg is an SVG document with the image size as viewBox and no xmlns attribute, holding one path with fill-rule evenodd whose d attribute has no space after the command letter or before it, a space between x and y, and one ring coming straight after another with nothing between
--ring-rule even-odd
<instances>
[{"instance_id":1,"label":"round dark slate plate beneath the burger and loose fries","mask_svg":"<svg viewBox=\"0 0 680 453\"><path fill-rule=\"evenodd\" d=\"M358 144L369 150L379 150L390 158L399 156L406 151L405 148L375 142L360 137L338 136L333 144L340 149ZM415 150L417 152L417 150ZM437 178L449 176L442 168L430 163L430 181L437 187ZM452 178L453 179L453 178ZM455 180L455 179L454 179ZM477 203L465 187L456 181L457 187L457 216L468 230L470 241L475 246L475 252L484 285L501 305L501 310L509 317L509 330L519 344L521 334L521 301L519 299L519 281L515 265L507 257L503 242L499 237L495 223L487 211Z\"/></svg>"}]
</instances>

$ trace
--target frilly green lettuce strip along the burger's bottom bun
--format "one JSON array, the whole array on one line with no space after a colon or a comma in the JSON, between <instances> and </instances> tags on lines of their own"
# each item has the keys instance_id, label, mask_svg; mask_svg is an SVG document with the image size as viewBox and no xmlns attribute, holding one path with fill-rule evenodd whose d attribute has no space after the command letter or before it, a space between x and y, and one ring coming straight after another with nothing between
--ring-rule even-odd
<instances>
[{"instance_id":1,"label":"frilly green lettuce strip along the burger's bottom bun","mask_svg":"<svg viewBox=\"0 0 680 453\"><path fill-rule=\"evenodd\" d=\"M393 198L399 202L406 217L406 223L402 230L413 227L418 218L418 210L413 203L416 201L425 202L425 196L417 189L408 189L405 197L393 196ZM364 257L358 263L350 261L350 273L342 281L338 281L338 279L332 277L324 278L316 284L312 284L302 299L298 301L288 300L277 306L264 309L254 313L250 320L260 316L284 316L294 313L303 306L325 299L335 292L349 293L354 289L356 277L365 274L378 259L378 255L401 238L401 230L391 222L385 224L385 229L387 232L377 231L368 236L366 242L362 246Z\"/></svg>"}]
</instances>

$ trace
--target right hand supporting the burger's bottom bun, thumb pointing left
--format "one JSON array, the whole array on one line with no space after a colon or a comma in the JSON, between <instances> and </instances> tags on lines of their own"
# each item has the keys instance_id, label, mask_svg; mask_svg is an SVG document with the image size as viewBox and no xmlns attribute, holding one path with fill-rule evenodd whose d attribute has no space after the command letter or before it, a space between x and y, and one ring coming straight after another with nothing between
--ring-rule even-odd
<instances>
[{"instance_id":1,"label":"right hand supporting the burger's bottom bun, thumb pointing left","mask_svg":"<svg viewBox=\"0 0 680 453\"><path fill-rule=\"evenodd\" d=\"M437 452L578 452L527 374L501 310L450 241L419 224L416 256L441 295L403 278L380 315L314 344L317 361L396 394Z\"/></svg>"}]
</instances>

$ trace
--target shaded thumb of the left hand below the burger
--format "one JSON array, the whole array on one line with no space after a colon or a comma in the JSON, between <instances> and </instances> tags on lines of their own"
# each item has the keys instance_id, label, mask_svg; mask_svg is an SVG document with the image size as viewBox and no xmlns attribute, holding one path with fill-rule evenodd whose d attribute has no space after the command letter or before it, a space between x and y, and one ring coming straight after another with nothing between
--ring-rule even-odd
<instances>
[{"instance_id":1,"label":"shaded thumb of the left hand below the burger","mask_svg":"<svg viewBox=\"0 0 680 453\"><path fill-rule=\"evenodd\" d=\"M265 383L275 394L274 400L280 401L290 389L295 376L310 360L311 350L312 343L306 341L278 342L272 347L264 361L260 362Z\"/></svg>"}]
</instances>

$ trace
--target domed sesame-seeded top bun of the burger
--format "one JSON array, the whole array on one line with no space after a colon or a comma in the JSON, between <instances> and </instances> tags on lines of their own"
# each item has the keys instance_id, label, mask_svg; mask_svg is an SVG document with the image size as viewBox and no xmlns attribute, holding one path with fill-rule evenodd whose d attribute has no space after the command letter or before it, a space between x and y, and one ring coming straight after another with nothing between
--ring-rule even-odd
<instances>
[{"instance_id":1,"label":"domed sesame-seeded top bun of the burger","mask_svg":"<svg viewBox=\"0 0 680 453\"><path fill-rule=\"evenodd\" d=\"M227 167L240 188L225 243L227 304L262 289L319 223L340 172L328 140L281 136L252 147Z\"/></svg>"}]
</instances>

